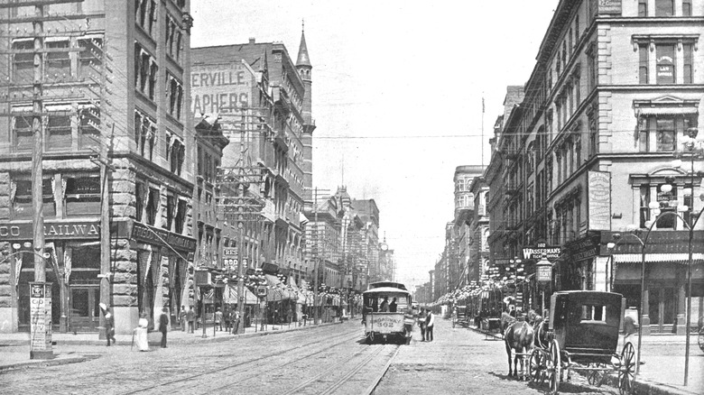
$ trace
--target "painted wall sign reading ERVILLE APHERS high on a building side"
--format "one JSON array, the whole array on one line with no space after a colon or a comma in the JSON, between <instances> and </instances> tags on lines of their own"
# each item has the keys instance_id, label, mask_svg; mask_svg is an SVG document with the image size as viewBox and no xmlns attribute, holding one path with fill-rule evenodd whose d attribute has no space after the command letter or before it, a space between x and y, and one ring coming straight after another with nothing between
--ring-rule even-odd
<instances>
[{"instance_id":1,"label":"painted wall sign reading ERVILLE APHERS high on a building side","mask_svg":"<svg viewBox=\"0 0 704 395\"><path fill-rule=\"evenodd\" d=\"M255 85L242 63L194 65L190 71L193 114L234 114L245 109Z\"/></svg>"}]
</instances>

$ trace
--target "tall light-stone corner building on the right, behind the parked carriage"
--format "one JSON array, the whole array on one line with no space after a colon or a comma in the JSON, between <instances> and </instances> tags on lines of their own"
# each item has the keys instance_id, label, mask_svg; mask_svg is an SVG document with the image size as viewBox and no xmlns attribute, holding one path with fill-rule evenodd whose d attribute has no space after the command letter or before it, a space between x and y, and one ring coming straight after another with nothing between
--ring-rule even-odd
<instances>
[{"instance_id":1,"label":"tall light-stone corner building on the right, behind the parked carriage","mask_svg":"<svg viewBox=\"0 0 704 395\"><path fill-rule=\"evenodd\" d=\"M685 333L690 243L701 264L704 222L693 242L687 228L702 209L702 162L683 143L702 121L703 22L700 0L560 1L487 175L490 207L506 213L492 253L561 247L551 289L614 289L636 307L643 293L645 333ZM683 150L684 168L672 163ZM651 225L641 289L642 246L623 231ZM696 323L700 271L693 282Z\"/></svg>"}]
</instances>

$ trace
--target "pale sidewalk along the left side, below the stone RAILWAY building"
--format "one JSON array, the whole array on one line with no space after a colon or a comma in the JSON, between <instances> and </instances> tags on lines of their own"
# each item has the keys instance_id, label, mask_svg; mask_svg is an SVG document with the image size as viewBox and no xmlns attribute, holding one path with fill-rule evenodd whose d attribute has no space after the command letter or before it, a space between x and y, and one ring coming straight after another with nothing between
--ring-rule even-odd
<instances>
[{"instance_id":1,"label":"pale sidewalk along the left side, below the stone RAILWAY building","mask_svg":"<svg viewBox=\"0 0 704 395\"><path fill-rule=\"evenodd\" d=\"M225 342L228 340L245 339L249 337L261 335L275 335L291 331L305 330L320 326L329 326L340 324L340 321L322 323L320 325L307 324L298 326L297 323L284 325L266 325L264 330L260 330L258 326L249 326L245 328L245 333L241 335L228 334L225 331L215 331L213 335L213 326L206 327L206 336L203 337L203 328L199 328L195 333L189 334L181 332L180 328L171 329L169 331L169 344L198 344L203 342ZM132 335L116 335L116 343L113 345L119 349L129 349L133 338ZM149 332L149 345L159 346L162 339L161 332ZM106 346L107 340L100 340L97 333L53 333L51 339L54 342L53 351L54 358L51 360L31 360L29 352L29 333L13 333L0 334L0 372L11 369L22 369L26 367L42 367L54 366L65 363L80 363L89 359L95 359L109 350ZM112 348L112 346L111 346Z\"/></svg>"}]
</instances>

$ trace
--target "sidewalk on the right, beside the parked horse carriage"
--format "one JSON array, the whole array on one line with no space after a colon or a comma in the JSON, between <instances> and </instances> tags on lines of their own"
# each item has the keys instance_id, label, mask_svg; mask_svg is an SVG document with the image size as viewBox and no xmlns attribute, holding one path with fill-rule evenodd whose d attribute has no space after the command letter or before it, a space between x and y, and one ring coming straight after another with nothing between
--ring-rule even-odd
<instances>
[{"instance_id":1,"label":"sidewalk on the right, beside the parked horse carriage","mask_svg":"<svg viewBox=\"0 0 704 395\"><path fill-rule=\"evenodd\" d=\"M469 329L485 335L502 338L499 334L486 333L476 326ZM638 336L630 339L636 353ZM619 337L616 350L618 354L623 348L623 336ZM642 364L638 377L635 379L634 390L638 394L673 394L694 395L704 393L704 353L699 350L697 336L690 336L690 367L688 386L684 387L684 351L686 336L684 335L648 335L641 342ZM616 375L611 375L609 385L617 386Z\"/></svg>"}]
</instances>

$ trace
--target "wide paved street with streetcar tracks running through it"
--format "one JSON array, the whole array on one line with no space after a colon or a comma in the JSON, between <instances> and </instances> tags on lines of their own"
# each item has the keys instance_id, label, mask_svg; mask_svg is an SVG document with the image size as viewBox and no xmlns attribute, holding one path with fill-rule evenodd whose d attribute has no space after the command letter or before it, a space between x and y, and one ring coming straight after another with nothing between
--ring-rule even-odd
<instances>
[{"instance_id":1,"label":"wide paved street with streetcar tracks running through it","mask_svg":"<svg viewBox=\"0 0 704 395\"><path fill-rule=\"evenodd\" d=\"M172 342L147 353L130 351L129 344L65 345L61 348L97 358L0 376L6 393L537 394L547 389L508 379L502 341L452 328L448 320L438 320L433 342L421 342L417 328L410 345L367 345L362 335L359 320L352 320L219 343ZM618 393L589 386L577 374L560 392Z\"/></svg>"}]
</instances>

